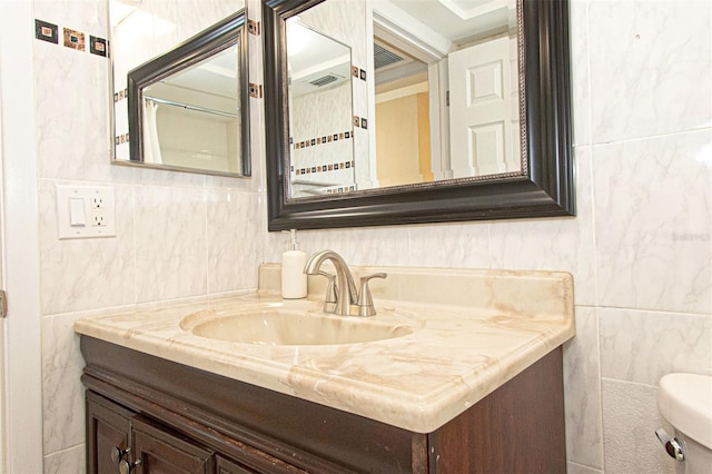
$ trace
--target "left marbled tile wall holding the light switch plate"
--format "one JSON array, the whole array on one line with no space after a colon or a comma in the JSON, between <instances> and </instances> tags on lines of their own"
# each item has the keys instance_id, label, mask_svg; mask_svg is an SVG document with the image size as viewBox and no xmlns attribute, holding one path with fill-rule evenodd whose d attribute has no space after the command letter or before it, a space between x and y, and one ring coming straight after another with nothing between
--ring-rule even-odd
<instances>
[{"instance_id":1,"label":"left marbled tile wall holding the light switch plate","mask_svg":"<svg viewBox=\"0 0 712 474\"><path fill-rule=\"evenodd\" d=\"M208 21L210 9L198 3L181 1L181 14ZM60 32L107 38L106 1L36 0L34 16ZM260 166L251 179L112 166L107 58L36 41L34 70L44 471L77 473L83 363L72 322L106 308L256 288L267 236L264 178ZM57 238L56 188L68 184L113 188L116 238Z\"/></svg>"}]
</instances>

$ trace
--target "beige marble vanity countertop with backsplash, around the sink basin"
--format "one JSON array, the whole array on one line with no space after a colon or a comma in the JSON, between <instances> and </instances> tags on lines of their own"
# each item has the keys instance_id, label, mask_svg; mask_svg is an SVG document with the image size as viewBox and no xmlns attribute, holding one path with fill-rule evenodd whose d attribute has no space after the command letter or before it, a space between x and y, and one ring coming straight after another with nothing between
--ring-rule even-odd
<instances>
[{"instance_id":1,"label":"beige marble vanity countertop with backsplash, around the sink basin","mask_svg":"<svg viewBox=\"0 0 712 474\"><path fill-rule=\"evenodd\" d=\"M396 273L394 279L403 283L411 277L406 274L398 277ZM497 289L522 275L524 294L511 294L508 287L506 292ZM505 276L492 284L492 278L496 279L492 271L455 274L456 278L466 278L472 288L486 293L488 299L479 306L464 304L466 298L456 304L411 302L403 292L395 295L392 289L376 287L375 296L396 298L375 298L379 312L375 318L398 314L418 329L375 342L257 345L205 338L181 327L184 318L200 312L320 306L320 297L285 302L269 290L85 317L76 322L75 330L389 425L429 433L574 336L573 286L567 274L543 275L543 289L533 284L532 273ZM467 293L476 297L477 292ZM521 302L497 300L526 295L538 295L550 303L535 302L527 309ZM406 300L398 299L402 297Z\"/></svg>"}]
</instances>

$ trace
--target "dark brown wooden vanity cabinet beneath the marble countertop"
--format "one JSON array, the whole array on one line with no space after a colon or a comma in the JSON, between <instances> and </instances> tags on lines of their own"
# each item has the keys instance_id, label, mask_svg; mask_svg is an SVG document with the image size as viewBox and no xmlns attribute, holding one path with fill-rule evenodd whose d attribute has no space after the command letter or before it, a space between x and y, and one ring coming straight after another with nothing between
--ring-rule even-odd
<instances>
[{"instance_id":1,"label":"dark brown wooden vanity cabinet beneath the marble countertop","mask_svg":"<svg viewBox=\"0 0 712 474\"><path fill-rule=\"evenodd\" d=\"M88 473L566 471L561 347L428 434L87 336L81 349Z\"/></svg>"}]
</instances>

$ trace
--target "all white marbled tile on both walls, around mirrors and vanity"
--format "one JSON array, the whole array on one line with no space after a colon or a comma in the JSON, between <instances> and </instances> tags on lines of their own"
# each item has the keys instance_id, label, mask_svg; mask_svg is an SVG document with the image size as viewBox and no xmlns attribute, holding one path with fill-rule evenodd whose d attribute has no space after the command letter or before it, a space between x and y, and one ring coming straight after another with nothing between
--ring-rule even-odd
<instances>
[{"instance_id":1,"label":"all white marbled tile on both walls, around mirrors and vanity","mask_svg":"<svg viewBox=\"0 0 712 474\"><path fill-rule=\"evenodd\" d=\"M36 18L103 37L99 0L34 0ZM349 263L567 270L572 473L674 471L656 383L712 372L712 3L573 0L577 217L301 233ZM33 26L28 26L33 28ZM253 42L254 45L254 42ZM260 52L251 80L260 82ZM109 165L106 59L36 41L44 471L82 471L82 367L71 323L116 307L254 288L266 231L261 102L250 180ZM259 80L257 80L259 79ZM110 185L117 237L58 240L58 184Z\"/></svg>"}]
</instances>

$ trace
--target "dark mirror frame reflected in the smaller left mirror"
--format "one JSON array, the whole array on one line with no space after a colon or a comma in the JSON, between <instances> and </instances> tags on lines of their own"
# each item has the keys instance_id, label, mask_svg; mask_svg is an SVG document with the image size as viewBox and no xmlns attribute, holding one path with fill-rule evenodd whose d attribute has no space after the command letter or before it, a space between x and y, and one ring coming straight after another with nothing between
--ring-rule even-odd
<instances>
[{"instance_id":1,"label":"dark mirror frame reflected in the smaller left mirror","mask_svg":"<svg viewBox=\"0 0 712 474\"><path fill-rule=\"evenodd\" d=\"M142 117L142 89L151 83L179 72L189 66L208 59L211 56L229 48L236 40L239 40L240 50L238 67L240 69L239 95L240 95L240 175L249 177L251 175L250 160L250 135L249 135L249 75L248 75L248 52L247 52L247 24L245 22L246 10L238 11L224 20L215 23L210 28L199 32L192 38L178 45L165 55L155 58L128 73L128 112L129 112L129 141L130 161L113 160L118 165L130 165L141 162L146 167L156 167L144 164L144 122ZM197 170L170 165L157 166L160 169L174 169L179 171L202 172L208 175L229 175L219 171Z\"/></svg>"}]
</instances>

